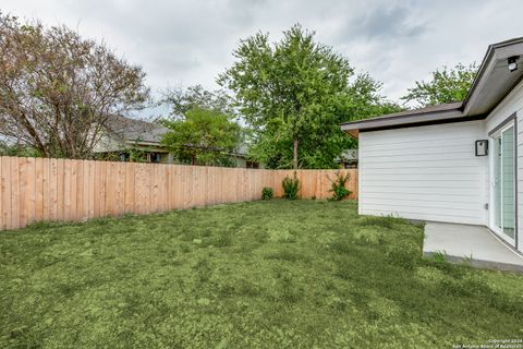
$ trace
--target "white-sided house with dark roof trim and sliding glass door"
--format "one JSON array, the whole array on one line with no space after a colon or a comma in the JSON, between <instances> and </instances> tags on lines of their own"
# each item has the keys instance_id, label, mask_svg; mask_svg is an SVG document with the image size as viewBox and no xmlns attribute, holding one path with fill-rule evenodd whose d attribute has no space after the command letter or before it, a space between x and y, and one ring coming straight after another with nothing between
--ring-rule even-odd
<instances>
[{"instance_id":1,"label":"white-sided house with dark roof trim and sliding glass door","mask_svg":"<svg viewBox=\"0 0 523 349\"><path fill-rule=\"evenodd\" d=\"M523 38L491 45L463 103L343 123L358 139L360 214L487 226L523 251L518 61Z\"/></svg>"}]
</instances>

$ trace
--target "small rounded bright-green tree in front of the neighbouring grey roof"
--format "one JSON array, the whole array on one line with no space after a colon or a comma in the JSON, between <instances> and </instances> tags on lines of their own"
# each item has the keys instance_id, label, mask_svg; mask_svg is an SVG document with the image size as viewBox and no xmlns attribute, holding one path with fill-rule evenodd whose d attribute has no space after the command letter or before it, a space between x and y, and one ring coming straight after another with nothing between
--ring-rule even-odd
<instances>
[{"instance_id":1,"label":"small rounded bright-green tree in front of the neighbouring grey roof","mask_svg":"<svg viewBox=\"0 0 523 349\"><path fill-rule=\"evenodd\" d=\"M218 110L193 108L178 119L163 120L170 131L162 135L179 160L192 165L228 164L241 140L241 128L232 117Z\"/></svg>"}]
</instances>

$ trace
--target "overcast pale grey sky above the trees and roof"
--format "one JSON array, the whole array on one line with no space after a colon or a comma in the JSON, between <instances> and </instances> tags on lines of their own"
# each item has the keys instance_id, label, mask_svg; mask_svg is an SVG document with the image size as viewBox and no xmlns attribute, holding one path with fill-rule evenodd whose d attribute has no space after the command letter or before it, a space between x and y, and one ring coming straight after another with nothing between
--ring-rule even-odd
<instances>
[{"instance_id":1,"label":"overcast pale grey sky above the trees and roof","mask_svg":"<svg viewBox=\"0 0 523 349\"><path fill-rule=\"evenodd\" d=\"M489 44L523 36L523 1L513 0L2 0L0 9L104 39L143 65L154 92L217 88L241 38L262 31L277 40L294 23L381 81L391 100L436 68L479 63Z\"/></svg>"}]
</instances>

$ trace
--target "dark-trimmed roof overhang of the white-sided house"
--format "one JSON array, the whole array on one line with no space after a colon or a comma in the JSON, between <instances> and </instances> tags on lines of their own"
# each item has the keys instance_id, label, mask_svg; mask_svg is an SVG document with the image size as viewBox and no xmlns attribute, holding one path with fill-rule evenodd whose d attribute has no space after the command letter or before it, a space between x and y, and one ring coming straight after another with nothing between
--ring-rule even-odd
<instances>
[{"instance_id":1,"label":"dark-trimmed roof overhang of the white-sided house","mask_svg":"<svg viewBox=\"0 0 523 349\"><path fill-rule=\"evenodd\" d=\"M523 56L523 37L492 44L464 101L344 122L341 129L357 139L360 131L485 119L523 79L523 67L513 72L508 69L508 59L520 56Z\"/></svg>"}]
</instances>

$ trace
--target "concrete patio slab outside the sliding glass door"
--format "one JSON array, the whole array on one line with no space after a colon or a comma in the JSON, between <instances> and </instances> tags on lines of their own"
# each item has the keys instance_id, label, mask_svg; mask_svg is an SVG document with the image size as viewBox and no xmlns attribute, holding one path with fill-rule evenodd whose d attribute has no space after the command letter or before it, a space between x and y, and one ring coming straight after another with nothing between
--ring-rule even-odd
<instances>
[{"instance_id":1,"label":"concrete patio slab outside the sliding glass door","mask_svg":"<svg viewBox=\"0 0 523 349\"><path fill-rule=\"evenodd\" d=\"M427 222L423 254L443 253L449 262L523 273L523 256L482 226Z\"/></svg>"}]
</instances>

